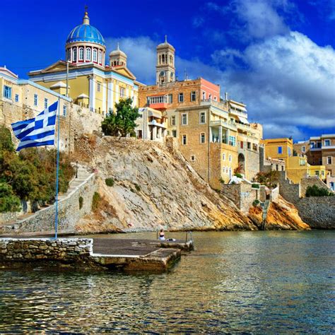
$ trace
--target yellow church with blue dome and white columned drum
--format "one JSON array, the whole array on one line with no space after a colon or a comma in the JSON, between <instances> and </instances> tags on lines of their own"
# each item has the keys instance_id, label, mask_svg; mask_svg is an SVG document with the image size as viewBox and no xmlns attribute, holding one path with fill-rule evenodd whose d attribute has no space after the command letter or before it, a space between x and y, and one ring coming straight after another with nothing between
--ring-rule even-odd
<instances>
[{"instance_id":1,"label":"yellow church with blue dome and white columned drum","mask_svg":"<svg viewBox=\"0 0 335 335\"><path fill-rule=\"evenodd\" d=\"M74 103L89 107L92 112L105 114L114 110L114 104L121 98L132 98L137 106L141 83L128 69L127 55L117 45L106 65L106 52L105 40L99 30L90 25L86 11L83 23L67 37L66 60L30 71L28 75L31 81L56 93L66 95L67 91Z\"/></svg>"}]
</instances>

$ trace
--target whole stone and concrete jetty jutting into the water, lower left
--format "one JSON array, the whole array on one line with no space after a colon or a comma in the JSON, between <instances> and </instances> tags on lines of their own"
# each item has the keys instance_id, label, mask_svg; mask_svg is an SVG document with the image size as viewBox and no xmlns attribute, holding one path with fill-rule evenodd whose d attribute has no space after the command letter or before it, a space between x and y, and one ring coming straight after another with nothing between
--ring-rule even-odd
<instances>
[{"instance_id":1,"label":"whole stone and concrete jetty jutting into the water, lower left","mask_svg":"<svg viewBox=\"0 0 335 335\"><path fill-rule=\"evenodd\" d=\"M0 238L0 268L167 271L193 240Z\"/></svg>"}]
</instances>

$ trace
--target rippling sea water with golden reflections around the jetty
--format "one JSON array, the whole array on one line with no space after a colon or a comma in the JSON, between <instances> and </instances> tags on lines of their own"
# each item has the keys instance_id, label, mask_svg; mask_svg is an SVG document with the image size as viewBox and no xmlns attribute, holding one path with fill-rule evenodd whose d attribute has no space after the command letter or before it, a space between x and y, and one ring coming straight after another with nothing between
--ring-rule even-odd
<instances>
[{"instance_id":1,"label":"rippling sea water with golden reflections around the jetty","mask_svg":"<svg viewBox=\"0 0 335 335\"><path fill-rule=\"evenodd\" d=\"M334 231L194 240L165 274L0 271L0 332L335 331Z\"/></svg>"}]
</instances>

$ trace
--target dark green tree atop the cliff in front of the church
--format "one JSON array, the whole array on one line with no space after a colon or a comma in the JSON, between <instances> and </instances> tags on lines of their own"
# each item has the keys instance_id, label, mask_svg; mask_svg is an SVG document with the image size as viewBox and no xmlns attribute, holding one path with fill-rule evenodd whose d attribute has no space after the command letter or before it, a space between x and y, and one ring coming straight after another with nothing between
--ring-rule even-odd
<instances>
[{"instance_id":1,"label":"dark green tree atop the cliff in front of the church","mask_svg":"<svg viewBox=\"0 0 335 335\"><path fill-rule=\"evenodd\" d=\"M122 99L115 104L116 112L110 112L102 121L101 127L105 135L109 136L135 136L136 119L139 117L139 109L132 107L131 98Z\"/></svg>"}]
</instances>

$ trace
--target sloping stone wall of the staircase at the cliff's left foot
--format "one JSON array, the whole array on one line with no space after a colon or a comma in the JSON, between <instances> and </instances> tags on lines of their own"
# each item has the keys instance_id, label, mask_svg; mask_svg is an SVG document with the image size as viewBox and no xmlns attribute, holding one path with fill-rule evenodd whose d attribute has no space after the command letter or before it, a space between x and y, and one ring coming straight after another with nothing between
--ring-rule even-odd
<instances>
[{"instance_id":1,"label":"sloping stone wall of the staircase at the cliff's left foot","mask_svg":"<svg viewBox=\"0 0 335 335\"><path fill-rule=\"evenodd\" d=\"M86 179L74 192L71 192L66 198L59 200L59 233L74 233L76 223L80 218L91 212L93 194L98 189L95 183L95 175L92 174ZM83 206L79 208L79 198L83 198ZM20 223L14 225L3 225L0 232L6 233L40 233L53 232L55 221L55 206L42 208L26 218Z\"/></svg>"}]
</instances>

